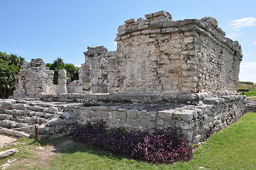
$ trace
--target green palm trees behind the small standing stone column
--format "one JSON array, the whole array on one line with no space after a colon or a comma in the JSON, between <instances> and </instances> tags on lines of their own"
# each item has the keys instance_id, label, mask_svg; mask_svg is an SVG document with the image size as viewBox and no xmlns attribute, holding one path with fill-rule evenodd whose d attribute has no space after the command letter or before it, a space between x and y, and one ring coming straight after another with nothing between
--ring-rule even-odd
<instances>
[{"instance_id":1,"label":"green palm trees behind the small standing stone column","mask_svg":"<svg viewBox=\"0 0 256 170\"><path fill-rule=\"evenodd\" d=\"M69 84L71 81L79 79L79 67L75 67L74 64L65 64L60 57L57 58L57 60L54 60L52 64L47 63L45 65L51 70L54 70L53 84L57 84L58 71L60 69L65 69L67 71L67 84Z\"/></svg>"}]
</instances>

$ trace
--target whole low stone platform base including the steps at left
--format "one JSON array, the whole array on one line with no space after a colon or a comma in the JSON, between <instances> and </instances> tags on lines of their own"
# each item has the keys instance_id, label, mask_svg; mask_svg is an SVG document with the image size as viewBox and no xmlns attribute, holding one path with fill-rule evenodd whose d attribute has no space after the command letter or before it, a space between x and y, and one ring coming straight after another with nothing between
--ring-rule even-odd
<instances>
[{"instance_id":1,"label":"whole low stone platform base including the steps at left","mask_svg":"<svg viewBox=\"0 0 256 170\"><path fill-rule=\"evenodd\" d=\"M74 125L103 119L108 127L137 130L177 128L184 140L194 144L240 118L247 103L245 96L225 93L158 97L60 94L40 97L45 101L26 101L28 98L1 101L0 127L23 127L24 131L32 133L30 125L37 119L40 137L60 137L70 134ZM67 102L74 100L83 102Z\"/></svg>"}]
</instances>

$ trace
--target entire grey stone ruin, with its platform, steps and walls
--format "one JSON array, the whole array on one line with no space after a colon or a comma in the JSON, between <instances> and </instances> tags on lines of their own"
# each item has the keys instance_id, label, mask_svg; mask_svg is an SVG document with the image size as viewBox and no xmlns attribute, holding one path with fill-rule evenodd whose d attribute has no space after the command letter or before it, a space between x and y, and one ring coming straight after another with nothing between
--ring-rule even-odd
<instances>
[{"instance_id":1,"label":"entire grey stone ruin, with its platform, steps and walls","mask_svg":"<svg viewBox=\"0 0 256 170\"><path fill-rule=\"evenodd\" d=\"M215 18L173 21L159 11L118 27L117 50L88 47L79 80L67 84L41 59L22 66L12 99L0 101L0 132L69 135L74 125L106 120L108 127L172 127L191 144L245 113L237 91L241 47Z\"/></svg>"}]
</instances>

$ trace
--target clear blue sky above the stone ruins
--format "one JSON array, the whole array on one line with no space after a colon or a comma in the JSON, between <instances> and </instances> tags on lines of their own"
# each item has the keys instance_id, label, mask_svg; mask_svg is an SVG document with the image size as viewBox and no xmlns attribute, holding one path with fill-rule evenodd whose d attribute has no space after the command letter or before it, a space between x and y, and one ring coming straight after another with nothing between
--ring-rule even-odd
<instances>
[{"instance_id":1,"label":"clear blue sky above the stone ruins","mask_svg":"<svg viewBox=\"0 0 256 170\"><path fill-rule=\"evenodd\" d=\"M0 0L0 51L30 62L84 63L87 47L116 50L118 26L130 18L165 10L174 21L212 16L226 37L242 45L240 81L256 83L256 1Z\"/></svg>"}]
</instances>

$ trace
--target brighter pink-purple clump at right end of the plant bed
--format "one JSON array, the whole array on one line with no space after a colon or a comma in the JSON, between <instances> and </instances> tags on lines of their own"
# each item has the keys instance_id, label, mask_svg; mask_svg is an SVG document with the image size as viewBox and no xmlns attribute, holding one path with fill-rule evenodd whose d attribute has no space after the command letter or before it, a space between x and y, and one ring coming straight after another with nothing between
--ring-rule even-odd
<instances>
[{"instance_id":1,"label":"brighter pink-purple clump at right end of the plant bed","mask_svg":"<svg viewBox=\"0 0 256 170\"><path fill-rule=\"evenodd\" d=\"M189 161L193 147L182 142L177 131L170 128L155 129L153 135L143 137L133 149L132 157L152 163Z\"/></svg>"}]
</instances>

